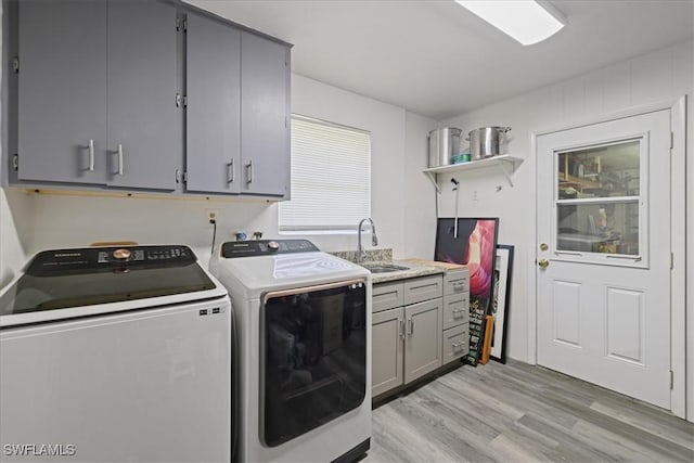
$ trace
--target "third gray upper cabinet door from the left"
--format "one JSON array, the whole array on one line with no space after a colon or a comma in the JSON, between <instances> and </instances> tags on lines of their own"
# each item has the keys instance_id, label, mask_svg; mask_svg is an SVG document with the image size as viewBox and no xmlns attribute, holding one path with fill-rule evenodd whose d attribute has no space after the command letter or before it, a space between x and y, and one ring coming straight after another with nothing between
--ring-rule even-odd
<instances>
[{"instance_id":1,"label":"third gray upper cabinet door from the left","mask_svg":"<svg viewBox=\"0 0 694 463\"><path fill-rule=\"evenodd\" d=\"M241 31L195 14L187 31L188 191L239 193Z\"/></svg>"}]
</instances>

